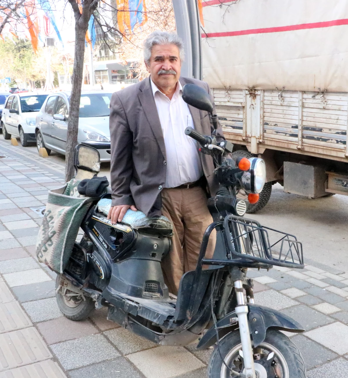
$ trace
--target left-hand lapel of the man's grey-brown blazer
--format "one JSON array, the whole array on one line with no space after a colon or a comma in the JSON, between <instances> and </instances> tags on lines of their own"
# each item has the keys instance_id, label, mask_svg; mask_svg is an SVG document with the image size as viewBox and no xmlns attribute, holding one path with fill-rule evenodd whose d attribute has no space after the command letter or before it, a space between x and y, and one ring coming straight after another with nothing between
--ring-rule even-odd
<instances>
[{"instance_id":1,"label":"left-hand lapel of the man's grey-brown blazer","mask_svg":"<svg viewBox=\"0 0 348 378\"><path fill-rule=\"evenodd\" d=\"M139 88L140 91L138 93L138 98L142 109L144 110L147 121L150 124L153 135L155 135L159 149L161 150L164 158L166 158L162 127L161 122L159 121L155 99L153 98L150 77L145 79L143 83L144 85Z\"/></svg>"}]
</instances>

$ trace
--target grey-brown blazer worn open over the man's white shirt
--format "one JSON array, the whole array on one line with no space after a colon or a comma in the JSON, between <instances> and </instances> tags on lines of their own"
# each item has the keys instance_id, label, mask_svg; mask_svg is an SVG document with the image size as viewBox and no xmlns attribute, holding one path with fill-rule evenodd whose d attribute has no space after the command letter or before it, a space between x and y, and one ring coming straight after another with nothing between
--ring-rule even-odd
<instances>
[{"instance_id":1,"label":"grey-brown blazer worn open over the man's white shirt","mask_svg":"<svg viewBox=\"0 0 348 378\"><path fill-rule=\"evenodd\" d=\"M181 85L192 83L207 90L206 82L180 77ZM213 126L207 112L189 105L195 130L211 135ZM215 106L214 106L215 111ZM153 98L150 77L115 92L110 102L112 206L135 204L146 215L161 215L158 206L167 174L161 123ZM221 126L218 139L224 139ZM218 182L210 155L200 153L210 195ZM153 208L156 202L156 208Z\"/></svg>"}]
</instances>

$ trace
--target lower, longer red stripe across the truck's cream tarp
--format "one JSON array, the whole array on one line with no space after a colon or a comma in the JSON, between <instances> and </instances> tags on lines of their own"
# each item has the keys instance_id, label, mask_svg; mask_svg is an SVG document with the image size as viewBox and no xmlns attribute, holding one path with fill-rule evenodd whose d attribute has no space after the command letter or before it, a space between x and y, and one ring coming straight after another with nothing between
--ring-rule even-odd
<instances>
[{"instance_id":1,"label":"lower, longer red stripe across the truck's cream tarp","mask_svg":"<svg viewBox=\"0 0 348 378\"><path fill-rule=\"evenodd\" d=\"M348 19L323 21L323 22L313 22L313 23L289 25L289 26L276 26L274 28L225 31L225 32L221 32L221 33L202 33L202 38L206 38L206 37L234 37L234 36L245 36L247 34L278 33L278 32L281 32L281 31L328 28L329 26L339 26L339 25L348 25Z\"/></svg>"}]
</instances>

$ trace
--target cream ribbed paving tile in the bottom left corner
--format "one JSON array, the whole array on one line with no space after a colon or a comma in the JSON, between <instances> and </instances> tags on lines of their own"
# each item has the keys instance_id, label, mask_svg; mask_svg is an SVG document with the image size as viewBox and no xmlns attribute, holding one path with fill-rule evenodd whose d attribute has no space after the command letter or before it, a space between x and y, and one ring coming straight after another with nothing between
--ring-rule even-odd
<instances>
[{"instance_id":1,"label":"cream ribbed paving tile in the bottom left corner","mask_svg":"<svg viewBox=\"0 0 348 378\"><path fill-rule=\"evenodd\" d=\"M0 373L0 378L65 378L66 375L59 365L51 359L46 359L35 364L17 367Z\"/></svg>"}]
</instances>

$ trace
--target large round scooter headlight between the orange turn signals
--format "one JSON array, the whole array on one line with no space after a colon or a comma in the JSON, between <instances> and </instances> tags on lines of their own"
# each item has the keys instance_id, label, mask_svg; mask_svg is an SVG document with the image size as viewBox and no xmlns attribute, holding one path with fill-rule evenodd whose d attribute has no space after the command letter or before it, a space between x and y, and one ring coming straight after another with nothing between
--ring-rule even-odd
<instances>
[{"instance_id":1,"label":"large round scooter headlight between the orange turn signals","mask_svg":"<svg viewBox=\"0 0 348 378\"><path fill-rule=\"evenodd\" d=\"M261 193L266 182L266 164L259 158L250 158L250 169L243 172L241 183L248 193Z\"/></svg>"}]
</instances>

